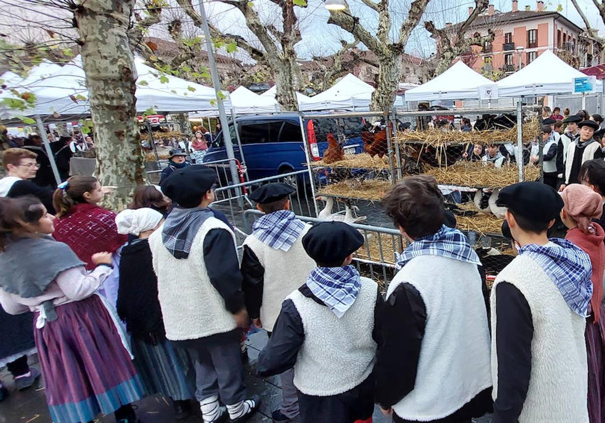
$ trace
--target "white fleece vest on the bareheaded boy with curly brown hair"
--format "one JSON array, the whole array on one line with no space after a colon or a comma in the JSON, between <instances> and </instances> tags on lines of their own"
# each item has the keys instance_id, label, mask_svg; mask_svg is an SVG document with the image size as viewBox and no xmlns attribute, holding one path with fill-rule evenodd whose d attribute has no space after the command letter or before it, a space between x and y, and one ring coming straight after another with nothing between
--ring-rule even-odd
<instances>
[{"instance_id":1,"label":"white fleece vest on the bareheaded boy with curly brown hair","mask_svg":"<svg viewBox=\"0 0 605 423\"><path fill-rule=\"evenodd\" d=\"M407 420L442 419L491 386L481 277L477 265L426 255L411 259L396 274L387 299L403 282L420 293L427 308L427 325L416 384L393 410Z\"/></svg>"}]
</instances>

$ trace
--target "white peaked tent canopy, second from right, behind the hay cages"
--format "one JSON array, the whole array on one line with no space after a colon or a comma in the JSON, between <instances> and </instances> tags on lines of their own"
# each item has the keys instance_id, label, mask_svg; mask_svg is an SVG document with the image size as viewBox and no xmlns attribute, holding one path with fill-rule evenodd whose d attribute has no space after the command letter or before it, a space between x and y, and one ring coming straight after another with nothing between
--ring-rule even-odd
<instances>
[{"instance_id":1,"label":"white peaked tent canopy, second from right, behind the hay cages","mask_svg":"<svg viewBox=\"0 0 605 423\"><path fill-rule=\"evenodd\" d=\"M479 87L494 82L466 66L462 60L428 82L405 91L406 102L479 98Z\"/></svg>"}]
</instances>

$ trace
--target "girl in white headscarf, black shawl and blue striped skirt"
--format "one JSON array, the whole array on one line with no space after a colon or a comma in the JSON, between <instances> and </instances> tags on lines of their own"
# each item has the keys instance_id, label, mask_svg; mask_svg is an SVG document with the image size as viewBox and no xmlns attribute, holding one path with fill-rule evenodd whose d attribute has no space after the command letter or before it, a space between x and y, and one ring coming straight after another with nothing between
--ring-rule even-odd
<instances>
[{"instance_id":1,"label":"girl in white headscarf, black shawl and blue striped skirt","mask_svg":"<svg viewBox=\"0 0 605 423\"><path fill-rule=\"evenodd\" d=\"M152 208L126 209L116 216L118 232L135 236L122 249L117 313L131 335L134 365L146 392L172 398L176 418L183 419L191 413L195 369L187 372L186 357L166 339L148 242L162 221L162 213Z\"/></svg>"}]
</instances>

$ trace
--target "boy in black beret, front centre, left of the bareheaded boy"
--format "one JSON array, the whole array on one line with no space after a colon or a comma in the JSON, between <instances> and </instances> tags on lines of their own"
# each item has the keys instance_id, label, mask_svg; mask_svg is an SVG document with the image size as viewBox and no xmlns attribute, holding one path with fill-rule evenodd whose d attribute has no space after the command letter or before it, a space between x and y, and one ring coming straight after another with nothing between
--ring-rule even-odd
<instances>
[{"instance_id":1,"label":"boy in black beret, front centre, left of the bareheaded boy","mask_svg":"<svg viewBox=\"0 0 605 423\"><path fill-rule=\"evenodd\" d=\"M317 267L281 306L258 357L261 376L294 367L302 423L370 421L374 410L374 312L378 284L359 276L363 236L342 222L315 225L302 245Z\"/></svg>"}]
</instances>

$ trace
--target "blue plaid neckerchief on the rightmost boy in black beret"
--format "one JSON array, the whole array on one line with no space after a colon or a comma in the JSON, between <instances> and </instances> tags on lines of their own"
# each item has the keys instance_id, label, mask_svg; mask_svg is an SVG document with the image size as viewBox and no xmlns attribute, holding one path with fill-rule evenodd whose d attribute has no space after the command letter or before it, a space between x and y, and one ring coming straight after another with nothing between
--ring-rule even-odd
<instances>
[{"instance_id":1,"label":"blue plaid neckerchief on the rightmost boy in black beret","mask_svg":"<svg viewBox=\"0 0 605 423\"><path fill-rule=\"evenodd\" d=\"M592 297L590 257L570 241L551 238L555 245L523 245L519 255L528 254L557 285L563 299L576 314L587 317Z\"/></svg>"}]
</instances>

